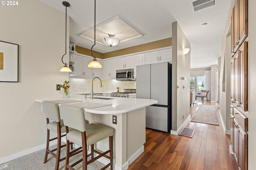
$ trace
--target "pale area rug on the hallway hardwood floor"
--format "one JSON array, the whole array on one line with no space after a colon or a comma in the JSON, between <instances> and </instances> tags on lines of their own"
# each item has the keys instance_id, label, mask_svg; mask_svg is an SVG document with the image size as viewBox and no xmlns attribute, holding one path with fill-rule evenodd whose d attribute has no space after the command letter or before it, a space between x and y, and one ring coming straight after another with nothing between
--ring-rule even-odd
<instances>
[{"instance_id":1,"label":"pale area rug on the hallway hardwood floor","mask_svg":"<svg viewBox=\"0 0 256 170\"><path fill-rule=\"evenodd\" d=\"M201 105L190 120L191 122L219 125L216 106Z\"/></svg>"}]
</instances>

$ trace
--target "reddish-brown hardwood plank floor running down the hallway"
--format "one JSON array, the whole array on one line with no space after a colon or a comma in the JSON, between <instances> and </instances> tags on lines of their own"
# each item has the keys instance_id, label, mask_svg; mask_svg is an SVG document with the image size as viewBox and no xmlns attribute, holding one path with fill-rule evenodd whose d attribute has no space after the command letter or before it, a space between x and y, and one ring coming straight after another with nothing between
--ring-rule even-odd
<instances>
[{"instance_id":1,"label":"reddish-brown hardwood plank floor running down the hallway","mask_svg":"<svg viewBox=\"0 0 256 170\"><path fill-rule=\"evenodd\" d=\"M192 117L199 105L217 105L198 100L190 107ZM238 170L229 153L230 135L222 125L188 122L185 127L196 129L193 138L170 135L146 129L144 152L129 170Z\"/></svg>"}]
</instances>

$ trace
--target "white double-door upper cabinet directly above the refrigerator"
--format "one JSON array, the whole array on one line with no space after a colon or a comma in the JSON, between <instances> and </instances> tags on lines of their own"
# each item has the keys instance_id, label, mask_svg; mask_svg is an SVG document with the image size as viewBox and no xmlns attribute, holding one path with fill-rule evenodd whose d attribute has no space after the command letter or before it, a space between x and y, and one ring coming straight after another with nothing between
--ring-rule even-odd
<instances>
[{"instance_id":1,"label":"white double-door upper cabinet directly above the refrigerator","mask_svg":"<svg viewBox=\"0 0 256 170\"><path fill-rule=\"evenodd\" d=\"M172 61L172 49L164 49L145 53L145 64L163 63Z\"/></svg>"}]
</instances>

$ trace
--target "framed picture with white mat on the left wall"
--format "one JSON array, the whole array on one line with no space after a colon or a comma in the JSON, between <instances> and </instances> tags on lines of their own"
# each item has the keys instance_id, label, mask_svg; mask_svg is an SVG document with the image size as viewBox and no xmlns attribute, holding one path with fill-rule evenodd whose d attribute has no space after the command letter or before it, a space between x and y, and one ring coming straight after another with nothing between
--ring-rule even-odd
<instances>
[{"instance_id":1,"label":"framed picture with white mat on the left wall","mask_svg":"<svg viewBox=\"0 0 256 170\"><path fill-rule=\"evenodd\" d=\"M18 47L0 41L0 82L18 82Z\"/></svg>"}]
</instances>

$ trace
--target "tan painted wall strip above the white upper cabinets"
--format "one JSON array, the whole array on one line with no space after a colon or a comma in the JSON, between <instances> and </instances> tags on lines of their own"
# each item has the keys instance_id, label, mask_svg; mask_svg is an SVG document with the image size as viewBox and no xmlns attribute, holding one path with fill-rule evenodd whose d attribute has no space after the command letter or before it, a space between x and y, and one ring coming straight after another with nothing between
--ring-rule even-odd
<instances>
[{"instance_id":1,"label":"tan painted wall strip above the white upper cabinets","mask_svg":"<svg viewBox=\"0 0 256 170\"><path fill-rule=\"evenodd\" d=\"M151 42L151 43L136 45L134 47L129 47L129 48L126 48L126 49L120 49L120 50L112 51L112 52L109 52L109 53L93 52L93 55L95 53L96 57L98 57L100 59L107 59L107 58L110 58L110 57L116 57L116 56L120 56L120 55L138 53L138 52L142 52L142 51L147 51L147 50L152 50L152 49L159 49L159 48L169 47L169 46L172 46L172 38L166 38L166 39L162 39L162 40L159 40L159 41L154 41L154 42ZM78 52L80 54L91 56L90 49L86 49L84 47L79 47L77 45L76 45L76 52Z\"/></svg>"}]
</instances>

